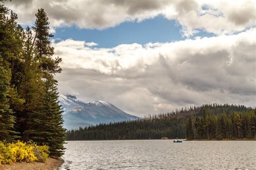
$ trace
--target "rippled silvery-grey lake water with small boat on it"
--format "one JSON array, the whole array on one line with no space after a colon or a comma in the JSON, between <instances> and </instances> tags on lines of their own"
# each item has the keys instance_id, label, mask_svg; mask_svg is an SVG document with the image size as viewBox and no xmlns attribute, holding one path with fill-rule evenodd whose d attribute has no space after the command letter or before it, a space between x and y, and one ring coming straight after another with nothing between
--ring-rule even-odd
<instances>
[{"instance_id":1,"label":"rippled silvery-grey lake water with small boat on it","mask_svg":"<svg viewBox=\"0 0 256 170\"><path fill-rule=\"evenodd\" d=\"M256 168L256 141L68 141L62 169Z\"/></svg>"}]
</instances>

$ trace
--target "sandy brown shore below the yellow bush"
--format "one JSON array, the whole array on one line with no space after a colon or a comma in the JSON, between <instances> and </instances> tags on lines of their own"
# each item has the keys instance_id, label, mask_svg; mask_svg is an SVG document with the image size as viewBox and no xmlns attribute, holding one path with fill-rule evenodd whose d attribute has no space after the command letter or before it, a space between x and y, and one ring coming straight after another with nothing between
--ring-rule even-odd
<instances>
[{"instance_id":1,"label":"sandy brown shore below the yellow bush","mask_svg":"<svg viewBox=\"0 0 256 170\"><path fill-rule=\"evenodd\" d=\"M47 158L45 162L14 162L0 165L0 169L59 169L64 160L62 158Z\"/></svg>"}]
</instances>

